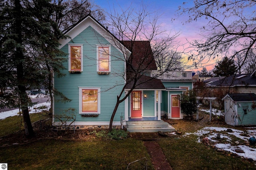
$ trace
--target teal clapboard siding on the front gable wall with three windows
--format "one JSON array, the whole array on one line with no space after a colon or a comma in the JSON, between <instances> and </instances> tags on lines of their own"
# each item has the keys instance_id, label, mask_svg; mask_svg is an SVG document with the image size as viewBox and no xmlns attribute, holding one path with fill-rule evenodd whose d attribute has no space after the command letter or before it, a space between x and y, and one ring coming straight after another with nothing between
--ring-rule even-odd
<instances>
[{"instance_id":1,"label":"teal clapboard siding on the front gable wall with three windows","mask_svg":"<svg viewBox=\"0 0 256 170\"><path fill-rule=\"evenodd\" d=\"M110 43L98 34L92 27L87 27L72 41L74 44L83 44L83 72L80 74L70 74L68 72L68 61L63 63L66 70L62 73L66 76L54 78L54 88L62 92L71 102L58 102L58 96L55 96L54 116L58 117L61 114L69 114L66 112L69 108L74 108L77 121L110 121L112 111L116 104L116 96L122 90L121 84L124 84L124 79L120 75L124 75L124 62L116 60L116 57L123 57L122 53L111 46L111 72L108 75L99 75L96 65L96 45L110 45ZM68 45L61 48L62 51L68 53ZM66 56L68 58L68 55ZM114 85L120 84L120 86ZM79 111L79 89L78 87L97 87L100 88L100 114L98 117L82 117ZM124 102L118 107L114 121L120 121L121 114L124 114ZM58 121L58 119L54 119Z\"/></svg>"}]
</instances>

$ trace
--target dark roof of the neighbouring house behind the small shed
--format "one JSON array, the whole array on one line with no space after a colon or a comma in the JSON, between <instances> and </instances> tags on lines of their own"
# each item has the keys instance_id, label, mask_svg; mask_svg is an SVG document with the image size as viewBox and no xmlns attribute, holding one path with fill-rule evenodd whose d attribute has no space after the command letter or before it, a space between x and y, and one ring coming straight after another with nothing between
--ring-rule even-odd
<instances>
[{"instance_id":1,"label":"dark roof of the neighbouring house behind the small shed","mask_svg":"<svg viewBox=\"0 0 256 170\"><path fill-rule=\"evenodd\" d=\"M215 82L209 82L207 86L214 87L235 87L235 86L256 86L256 76L252 74L234 74Z\"/></svg>"}]
</instances>

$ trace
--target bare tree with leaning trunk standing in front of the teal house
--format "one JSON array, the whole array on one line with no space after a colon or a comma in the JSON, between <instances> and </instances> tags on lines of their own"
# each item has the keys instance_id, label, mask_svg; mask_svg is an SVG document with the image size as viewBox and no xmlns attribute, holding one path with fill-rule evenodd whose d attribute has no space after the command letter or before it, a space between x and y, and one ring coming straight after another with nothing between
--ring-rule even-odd
<instances>
[{"instance_id":1,"label":"bare tree with leaning trunk standing in front of the teal house","mask_svg":"<svg viewBox=\"0 0 256 170\"><path fill-rule=\"evenodd\" d=\"M167 51L170 42L175 39L177 34L173 37L167 35L162 41L162 46L158 47L157 41L162 35L166 35L165 30L162 30L158 24L158 16L154 12L148 12L144 6L141 6L140 10L128 8L122 10L121 13L114 11L114 13L109 14L109 18L110 30L121 41L115 46L122 50L124 56L120 59L126 63L126 74L122 75L126 83L122 84L122 90L117 96L116 106L110 119L109 132L111 132L112 122L119 104L124 102L136 87L155 79L145 76L149 70L157 69L151 45L155 47L155 51L153 51L158 51L158 55L160 55L161 51ZM126 58L127 52L123 50L122 45L125 45L130 51L130 57ZM167 64L164 71L170 67L171 62Z\"/></svg>"}]
</instances>

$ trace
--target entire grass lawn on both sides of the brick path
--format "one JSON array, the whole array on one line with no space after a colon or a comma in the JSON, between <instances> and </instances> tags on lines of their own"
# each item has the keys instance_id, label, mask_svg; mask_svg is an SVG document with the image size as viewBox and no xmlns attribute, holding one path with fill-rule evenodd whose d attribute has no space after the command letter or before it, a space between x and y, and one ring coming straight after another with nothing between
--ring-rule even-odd
<instances>
[{"instance_id":1,"label":"entire grass lawn on both sides of the brick path","mask_svg":"<svg viewBox=\"0 0 256 170\"><path fill-rule=\"evenodd\" d=\"M40 120L42 117L42 115L31 114L32 121ZM19 130L20 121L21 117L19 116L1 120L1 134L7 135ZM198 122L194 121L175 120L174 123L176 123L176 129L183 132L193 132L200 129ZM6 127L16 127L16 129ZM218 152L211 146L206 146L197 141L195 135L186 137L181 135L160 138L158 143L173 170L256 169L255 162ZM124 170L130 162L143 157L148 160L148 169L153 169L150 156L143 142L133 138L120 141L106 141L98 137L90 138L90 141L48 139L26 145L1 147L0 153L0 162L8 163L9 169L12 170ZM129 169L144 169L144 165L145 161L141 160L129 166Z\"/></svg>"}]
</instances>

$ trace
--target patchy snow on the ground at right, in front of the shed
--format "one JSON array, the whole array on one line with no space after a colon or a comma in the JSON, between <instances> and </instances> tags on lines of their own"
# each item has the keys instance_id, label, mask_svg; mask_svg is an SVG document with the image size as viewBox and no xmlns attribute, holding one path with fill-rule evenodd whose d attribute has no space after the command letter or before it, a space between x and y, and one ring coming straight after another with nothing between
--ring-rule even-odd
<instances>
[{"instance_id":1,"label":"patchy snow on the ground at right, in front of the shed","mask_svg":"<svg viewBox=\"0 0 256 170\"><path fill-rule=\"evenodd\" d=\"M206 137L209 139L210 142L214 142L214 146L216 148L228 151L228 152L232 152L232 153L236 153L239 156L243 156L245 158L252 158L253 160L256 160L256 149L255 147L252 147L251 145L247 146L247 145L235 145L232 146L230 143L231 142L235 142L232 141L232 135L234 135L237 138L242 139L243 141L245 141L246 143L249 143L249 139L250 137L255 137L256 138L256 127L251 128L250 130L246 130L246 133L248 134L247 136L244 136L244 131L240 131L237 129L231 129L233 132L227 132L227 129L231 129L231 128L225 128L225 127L204 127L203 129L195 132L195 133L186 133L185 135L183 135L184 137L187 135L191 135L194 134L196 136L198 136L198 142L201 142L202 136L206 135ZM225 132L225 134L222 134L222 132ZM227 133L227 134L226 134ZM217 134L220 134L220 141L223 141L223 143L221 143L220 141L218 141L218 139L216 139ZM244 151L244 153L237 153L235 150L236 149L242 149Z\"/></svg>"}]
</instances>

